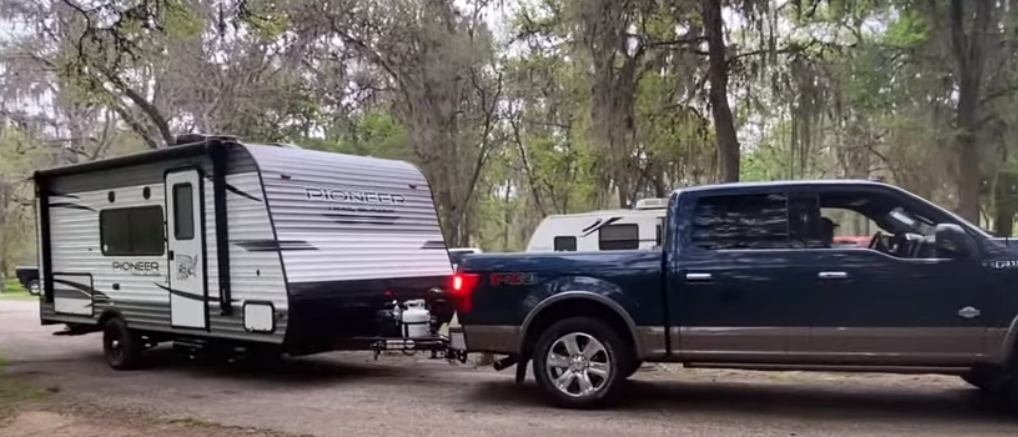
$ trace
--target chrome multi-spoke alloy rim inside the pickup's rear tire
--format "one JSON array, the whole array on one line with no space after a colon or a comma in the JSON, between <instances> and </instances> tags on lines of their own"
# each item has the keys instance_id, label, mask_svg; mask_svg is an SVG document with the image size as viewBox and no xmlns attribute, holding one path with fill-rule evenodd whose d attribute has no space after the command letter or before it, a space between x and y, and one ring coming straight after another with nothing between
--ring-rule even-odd
<instances>
[{"instance_id":1,"label":"chrome multi-spoke alloy rim inside the pickup's rear tire","mask_svg":"<svg viewBox=\"0 0 1018 437\"><path fill-rule=\"evenodd\" d=\"M563 394L581 397L597 393L612 374L612 358L605 344L582 332L565 334L552 343L546 359L549 378Z\"/></svg>"}]
</instances>

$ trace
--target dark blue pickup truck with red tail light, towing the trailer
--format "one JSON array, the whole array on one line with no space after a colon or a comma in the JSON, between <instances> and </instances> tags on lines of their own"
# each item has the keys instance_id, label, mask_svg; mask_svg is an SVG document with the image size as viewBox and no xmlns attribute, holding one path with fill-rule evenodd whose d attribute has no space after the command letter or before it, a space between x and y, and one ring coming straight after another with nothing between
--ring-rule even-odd
<instances>
[{"instance_id":1,"label":"dark blue pickup truck with red tail light, towing the trailer","mask_svg":"<svg viewBox=\"0 0 1018 437\"><path fill-rule=\"evenodd\" d=\"M833 242L846 214L868 247ZM465 257L450 334L572 407L643 362L958 375L1018 400L1015 284L1018 240L893 185L717 184L671 196L660 250Z\"/></svg>"}]
</instances>

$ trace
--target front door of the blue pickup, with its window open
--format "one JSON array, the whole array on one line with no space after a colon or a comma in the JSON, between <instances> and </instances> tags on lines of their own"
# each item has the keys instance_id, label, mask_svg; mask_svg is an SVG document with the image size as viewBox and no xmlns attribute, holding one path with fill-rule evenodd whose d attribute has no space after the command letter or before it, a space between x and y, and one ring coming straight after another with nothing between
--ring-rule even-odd
<instances>
[{"instance_id":1,"label":"front door of the blue pickup, with its window open","mask_svg":"<svg viewBox=\"0 0 1018 437\"><path fill-rule=\"evenodd\" d=\"M954 258L932 247L932 227L916 217L936 215L894 193L825 189L799 197L818 206L837 233L880 228L882 244L825 244L812 251L813 285L801 302L808 309L810 340L801 359L817 364L874 366L969 366L983 360L986 275L978 257ZM890 214L901 208L916 220L902 231ZM845 212L842 214L840 212ZM869 220L867 226L852 226ZM897 229L889 229L897 227ZM814 232L816 234L823 231ZM925 233L924 237L920 234ZM890 234L890 235L889 235ZM911 235L909 235L911 234Z\"/></svg>"}]
</instances>

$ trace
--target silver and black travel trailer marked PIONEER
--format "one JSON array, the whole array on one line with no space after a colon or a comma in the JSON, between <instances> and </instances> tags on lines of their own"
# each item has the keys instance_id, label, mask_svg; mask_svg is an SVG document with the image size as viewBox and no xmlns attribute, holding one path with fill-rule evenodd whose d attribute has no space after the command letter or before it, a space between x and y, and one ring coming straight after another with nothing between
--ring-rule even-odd
<instances>
[{"instance_id":1,"label":"silver and black travel trailer marked PIONEER","mask_svg":"<svg viewBox=\"0 0 1018 437\"><path fill-rule=\"evenodd\" d=\"M35 181L42 322L102 332L115 369L164 341L273 356L443 344L452 269L411 164L186 135Z\"/></svg>"}]
</instances>

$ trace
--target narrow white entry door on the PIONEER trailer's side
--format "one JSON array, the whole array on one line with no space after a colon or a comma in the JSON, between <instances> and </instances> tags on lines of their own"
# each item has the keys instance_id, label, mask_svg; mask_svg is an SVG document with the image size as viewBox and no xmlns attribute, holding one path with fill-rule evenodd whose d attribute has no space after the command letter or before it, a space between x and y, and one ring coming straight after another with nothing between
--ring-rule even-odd
<instances>
[{"instance_id":1,"label":"narrow white entry door on the PIONEER trailer's side","mask_svg":"<svg viewBox=\"0 0 1018 437\"><path fill-rule=\"evenodd\" d=\"M167 257L170 323L177 328L208 328L208 286L202 217L202 175L196 169L166 174Z\"/></svg>"}]
</instances>

